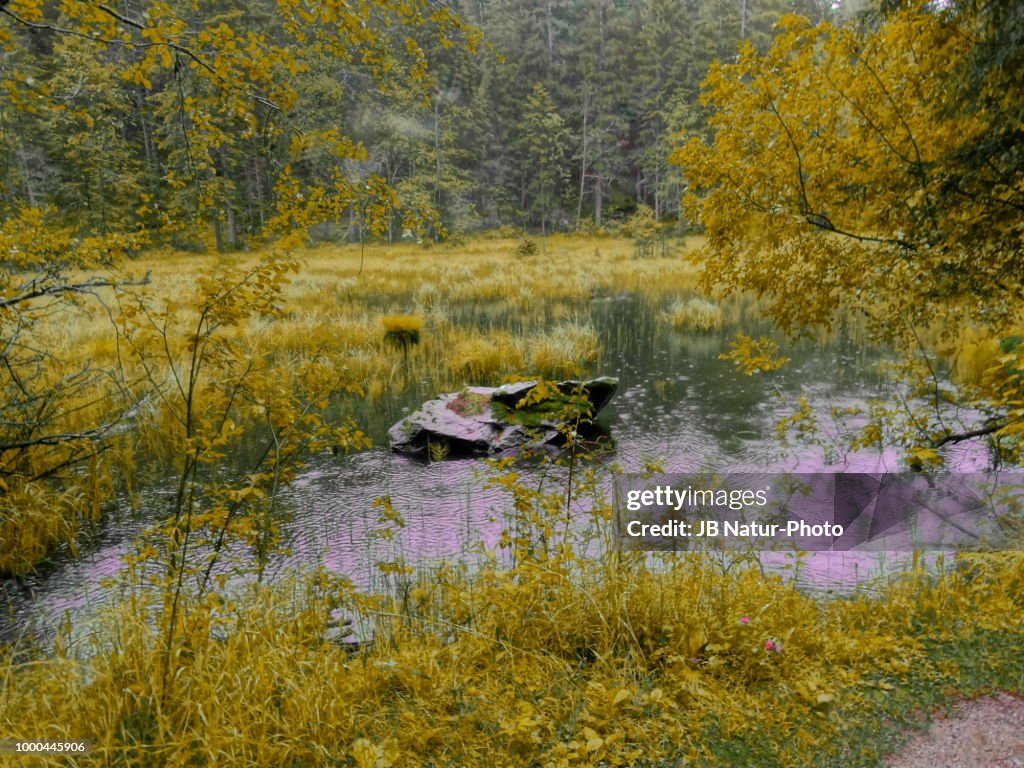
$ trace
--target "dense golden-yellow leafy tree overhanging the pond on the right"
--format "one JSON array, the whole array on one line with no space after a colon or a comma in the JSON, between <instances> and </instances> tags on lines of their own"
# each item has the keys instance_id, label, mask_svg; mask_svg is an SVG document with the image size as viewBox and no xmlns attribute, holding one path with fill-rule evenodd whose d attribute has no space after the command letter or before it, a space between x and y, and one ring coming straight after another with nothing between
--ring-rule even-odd
<instances>
[{"instance_id":1,"label":"dense golden-yellow leafy tree overhanging the pond on the right","mask_svg":"<svg viewBox=\"0 0 1024 768\"><path fill-rule=\"evenodd\" d=\"M912 360L923 404L898 437L926 460L988 435L1019 456L1024 430L1024 85L993 5L784 17L767 53L745 45L712 68L709 135L672 156L707 231L709 288L755 291L794 333L862 313ZM998 354L978 380L940 384L938 342L969 327Z\"/></svg>"}]
</instances>

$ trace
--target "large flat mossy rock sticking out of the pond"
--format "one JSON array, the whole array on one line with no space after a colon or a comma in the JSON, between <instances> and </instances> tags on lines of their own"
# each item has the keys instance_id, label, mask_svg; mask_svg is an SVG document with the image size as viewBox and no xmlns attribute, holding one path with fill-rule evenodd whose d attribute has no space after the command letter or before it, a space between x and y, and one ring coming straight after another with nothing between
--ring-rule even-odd
<instances>
[{"instance_id":1,"label":"large flat mossy rock sticking out of the pond","mask_svg":"<svg viewBox=\"0 0 1024 768\"><path fill-rule=\"evenodd\" d=\"M618 379L557 384L522 381L466 387L423 403L388 430L391 449L427 454L431 445L455 454L497 454L528 443L556 441L559 428L590 422L608 404Z\"/></svg>"}]
</instances>

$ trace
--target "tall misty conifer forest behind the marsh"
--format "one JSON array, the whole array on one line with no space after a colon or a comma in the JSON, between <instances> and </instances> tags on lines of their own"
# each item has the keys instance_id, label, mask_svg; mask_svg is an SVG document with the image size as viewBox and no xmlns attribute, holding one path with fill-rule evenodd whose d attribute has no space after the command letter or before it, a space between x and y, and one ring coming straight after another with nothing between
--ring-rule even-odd
<instances>
[{"instance_id":1,"label":"tall misty conifer forest behind the marsh","mask_svg":"<svg viewBox=\"0 0 1024 768\"><path fill-rule=\"evenodd\" d=\"M602 227L639 204L674 219L683 178L668 158L707 124L710 63L742 40L763 50L783 14L839 13L823 0L455 0L473 44L423 26L370 55L289 34L289 8L310 13L295 4L151 5L112 8L154 24L130 45L104 22L93 39L56 32L82 20L73 3L7 26L0 218L48 207L81 233L222 251L294 225L393 241ZM220 87L240 76L251 90Z\"/></svg>"}]
</instances>

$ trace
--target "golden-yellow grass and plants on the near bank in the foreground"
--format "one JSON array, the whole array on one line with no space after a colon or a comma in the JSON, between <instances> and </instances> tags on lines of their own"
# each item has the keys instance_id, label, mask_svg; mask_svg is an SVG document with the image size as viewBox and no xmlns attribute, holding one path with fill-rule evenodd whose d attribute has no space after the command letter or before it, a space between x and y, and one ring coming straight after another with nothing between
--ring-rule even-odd
<instances>
[{"instance_id":1,"label":"golden-yellow grass and plants on the near bank in the foreground","mask_svg":"<svg viewBox=\"0 0 1024 768\"><path fill-rule=\"evenodd\" d=\"M82 654L0 659L0 729L90 738L83 766L874 765L921 701L900 688L1024 686L1024 558L990 560L834 600L685 555L441 568L403 597L321 574L190 605L167 678L132 598ZM339 605L373 646L326 640Z\"/></svg>"}]
</instances>

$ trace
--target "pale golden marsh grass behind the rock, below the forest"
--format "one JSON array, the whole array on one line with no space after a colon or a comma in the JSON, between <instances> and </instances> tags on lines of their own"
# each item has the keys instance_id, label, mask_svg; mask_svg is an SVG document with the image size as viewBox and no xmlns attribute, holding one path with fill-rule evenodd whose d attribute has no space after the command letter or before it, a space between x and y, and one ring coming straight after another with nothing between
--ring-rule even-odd
<instances>
[{"instance_id":1,"label":"pale golden marsh grass behind the rock, below the forest","mask_svg":"<svg viewBox=\"0 0 1024 768\"><path fill-rule=\"evenodd\" d=\"M497 383L512 374L564 376L579 373L599 352L593 331L581 330L586 324L573 322L577 310L564 302L624 290L662 297L692 290L695 283L694 267L679 254L638 261L625 239L556 236L545 244L545 255L525 259L515 255L516 243L371 247L361 275L357 247L304 251L302 271L286 288L284 316L253 322L254 348L336 356L368 396L379 399L401 382L394 350L380 343L380 329L409 316L421 334L418 347L409 349L409 373L429 376L438 386ZM680 254L693 245L688 242ZM197 264L208 258L197 257ZM179 275L180 268L179 262L168 276ZM155 282L160 274L154 271ZM455 308L463 304L497 325L456 322Z\"/></svg>"}]
</instances>

